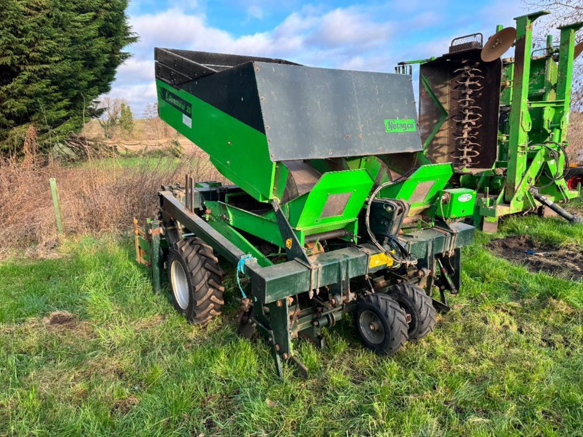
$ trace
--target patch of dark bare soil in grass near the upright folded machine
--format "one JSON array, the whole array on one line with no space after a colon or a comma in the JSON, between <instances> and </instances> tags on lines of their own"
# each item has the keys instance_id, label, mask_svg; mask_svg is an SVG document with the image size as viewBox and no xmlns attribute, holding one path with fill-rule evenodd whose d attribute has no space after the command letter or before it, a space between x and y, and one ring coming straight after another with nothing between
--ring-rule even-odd
<instances>
[{"instance_id":1,"label":"patch of dark bare soil in grass near the upright folded machine","mask_svg":"<svg viewBox=\"0 0 583 437\"><path fill-rule=\"evenodd\" d=\"M583 251L571 247L537 246L526 235L494 239L488 248L533 272L547 272L564 279L583 279Z\"/></svg>"}]
</instances>

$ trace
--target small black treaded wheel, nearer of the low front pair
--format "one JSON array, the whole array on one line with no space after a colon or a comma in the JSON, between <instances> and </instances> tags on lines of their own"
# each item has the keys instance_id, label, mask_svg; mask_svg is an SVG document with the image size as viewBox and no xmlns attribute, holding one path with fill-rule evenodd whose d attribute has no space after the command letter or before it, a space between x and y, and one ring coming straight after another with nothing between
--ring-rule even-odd
<instances>
[{"instance_id":1,"label":"small black treaded wheel, nearer of the low front pair","mask_svg":"<svg viewBox=\"0 0 583 437\"><path fill-rule=\"evenodd\" d=\"M407 341L405 311L386 294L362 299L354 311L354 325L364 346L379 355L393 355Z\"/></svg>"}]
</instances>

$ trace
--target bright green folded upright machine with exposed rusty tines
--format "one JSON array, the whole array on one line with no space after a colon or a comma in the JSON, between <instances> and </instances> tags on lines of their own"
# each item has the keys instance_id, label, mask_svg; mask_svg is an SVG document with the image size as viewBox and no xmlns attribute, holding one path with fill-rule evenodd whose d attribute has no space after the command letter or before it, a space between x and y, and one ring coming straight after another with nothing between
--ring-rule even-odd
<instances>
[{"instance_id":1,"label":"bright green folded upright machine with exposed rusty tines","mask_svg":"<svg viewBox=\"0 0 583 437\"><path fill-rule=\"evenodd\" d=\"M419 122L424 154L432 163L452 161L452 186L477 192L476 226L496 231L498 218L535 212L579 217L557 203L580 193L568 186L567 128L573 61L583 49L575 32L583 23L560 27L560 44L547 37L532 47L532 24L548 12L517 17L516 29L498 26L452 41L440 57L400 62L411 74L420 64ZM514 58L501 59L512 45Z\"/></svg>"}]
</instances>

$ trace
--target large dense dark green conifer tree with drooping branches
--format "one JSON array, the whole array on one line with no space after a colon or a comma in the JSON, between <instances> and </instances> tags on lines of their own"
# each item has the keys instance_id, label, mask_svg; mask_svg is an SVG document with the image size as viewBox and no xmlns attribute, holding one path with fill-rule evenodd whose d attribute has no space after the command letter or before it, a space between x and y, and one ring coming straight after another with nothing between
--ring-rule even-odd
<instances>
[{"instance_id":1,"label":"large dense dark green conifer tree with drooping branches","mask_svg":"<svg viewBox=\"0 0 583 437\"><path fill-rule=\"evenodd\" d=\"M128 0L0 0L0 151L22 148L30 125L47 149L99 116L137 41Z\"/></svg>"}]
</instances>

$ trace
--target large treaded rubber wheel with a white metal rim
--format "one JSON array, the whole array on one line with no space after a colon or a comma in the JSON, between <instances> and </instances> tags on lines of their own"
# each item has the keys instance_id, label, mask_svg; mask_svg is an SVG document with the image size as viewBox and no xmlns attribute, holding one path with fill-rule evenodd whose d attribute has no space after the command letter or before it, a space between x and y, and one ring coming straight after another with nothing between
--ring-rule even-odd
<instances>
[{"instance_id":1,"label":"large treaded rubber wheel with a white metal rim","mask_svg":"<svg viewBox=\"0 0 583 437\"><path fill-rule=\"evenodd\" d=\"M202 239L175 242L168 250L167 269L174 306L189 322L202 325L221 313L223 271Z\"/></svg>"}]
</instances>

